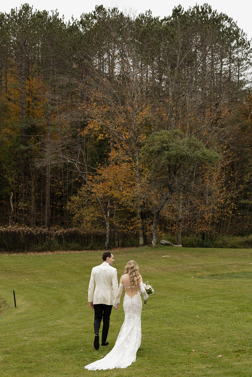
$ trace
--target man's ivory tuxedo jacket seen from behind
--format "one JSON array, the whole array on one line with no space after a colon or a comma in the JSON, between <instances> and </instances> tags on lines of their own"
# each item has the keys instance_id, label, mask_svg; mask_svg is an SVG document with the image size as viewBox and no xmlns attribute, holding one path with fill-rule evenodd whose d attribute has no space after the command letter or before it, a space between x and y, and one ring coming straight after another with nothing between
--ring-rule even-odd
<instances>
[{"instance_id":1,"label":"man's ivory tuxedo jacket seen from behind","mask_svg":"<svg viewBox=\"0 0 252 377\"><path fill-rule=\"evenodd\" d=\"M113 305L118 291L116 268L102 263L92 269L88 286L88 302Z\"/></svg>"}]
</instances>

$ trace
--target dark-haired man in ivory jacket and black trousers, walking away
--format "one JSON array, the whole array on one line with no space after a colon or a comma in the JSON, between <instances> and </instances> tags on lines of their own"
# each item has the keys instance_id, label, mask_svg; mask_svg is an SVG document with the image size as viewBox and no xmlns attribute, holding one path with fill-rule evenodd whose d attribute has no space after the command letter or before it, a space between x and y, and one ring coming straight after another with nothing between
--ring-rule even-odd
<instances>
[{"instance_id":1,"label":"dark-haired man in ivory jacket and black trousers, walking away","mask_svg":"<svg viewBox=\"0 0 252 377\"><path fill-rule=\"evenodd\" d=\"M102 326L102 346L107 346L110 314L118 291L116 268L112 267L114 256L110 251L102 254L103 263L92 269L88 287L88 302L94 309L94 348L98 349L100 323ZM95 287L95 288L94 288Z\"/></svg>"}]
</instances>

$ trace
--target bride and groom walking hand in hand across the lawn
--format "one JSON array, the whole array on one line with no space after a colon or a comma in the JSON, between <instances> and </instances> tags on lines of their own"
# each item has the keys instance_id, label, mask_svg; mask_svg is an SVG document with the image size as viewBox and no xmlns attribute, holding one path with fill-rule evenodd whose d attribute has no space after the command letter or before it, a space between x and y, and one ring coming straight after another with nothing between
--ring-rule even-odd
<instances>
[{"instance_id":1,"label":"bride and groom walking hand in hand across the lawn","mask_svg":"<svg viewBox=\"0 0 252 377\"><path fill-rule=\"evenodd\" d=\"M107 335L112 307L118 309L123 288L124 323L111 351L100 360L85 366L89 370L127 368L136 361L136 352L141 345L142 299L139 289L147 300L142 276L138 272L136 261L129 261L121 276L118 288L117 271L112 267L114 256L110 251L102 255L103 263L92 269L88 287L88 301L94 309L94 348L98 349L99 329L103 320L101 345L107 346Z\"/></svg>"}]
</instances>

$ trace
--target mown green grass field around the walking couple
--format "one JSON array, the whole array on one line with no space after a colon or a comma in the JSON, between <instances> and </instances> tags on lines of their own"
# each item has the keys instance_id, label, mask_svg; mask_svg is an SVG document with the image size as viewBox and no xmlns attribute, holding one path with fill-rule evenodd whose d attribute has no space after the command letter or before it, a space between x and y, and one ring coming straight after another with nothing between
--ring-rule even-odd
<instances>
[{"instance_id":1,"label":"mown green grass field around the walking couple","mask_svg":"<svg viewBox=\"0 0 252 377\"><path fill-rule=\"evenodd\" d=\"M155 293L143 305L136 362L87 371L113 348L124 320L121 304L110 344L96 351L87 290L101 256L0 254L1 377L252 376L252 249L115 250L118 279L135 259Z\"/></svg>"}]
</instances>

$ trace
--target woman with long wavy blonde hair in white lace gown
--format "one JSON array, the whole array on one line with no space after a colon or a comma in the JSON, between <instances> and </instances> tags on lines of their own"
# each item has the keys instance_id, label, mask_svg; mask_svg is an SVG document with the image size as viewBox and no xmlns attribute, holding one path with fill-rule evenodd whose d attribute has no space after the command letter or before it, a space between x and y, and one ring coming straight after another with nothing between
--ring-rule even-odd
<instances>
[{"instance_id":1,"label":"woman with long wavy blonde hair in white lace gown","mask_svg":"<svg viewBox=\"0 0 252 377\"><path fill-rule=\"evenodd\" d=\"M136 352L141 345L141 311L142 299L139 288L144 295L144 300L149 297L144 289L142 276L138 272L136 261L129 261L121 276L119 290L114 300L114 308L118 309L120 297L125 288L124 296L124 323L116 339L114 348L100 360L85 366L86 369L127 368L136 361Z\"/></svg>"}]
</instances>

